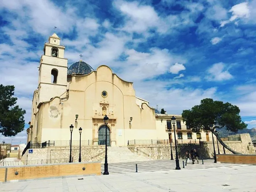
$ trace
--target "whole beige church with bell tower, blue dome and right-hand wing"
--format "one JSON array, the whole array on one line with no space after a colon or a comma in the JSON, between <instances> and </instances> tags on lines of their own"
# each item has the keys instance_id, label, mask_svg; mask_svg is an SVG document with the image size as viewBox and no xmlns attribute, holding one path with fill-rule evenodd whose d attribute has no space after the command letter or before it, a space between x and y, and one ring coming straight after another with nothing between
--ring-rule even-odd
<instances>
[{"instance_id":1,"label":"whole beige church with bell tower, blue dome and right-hand wing","mask_svg":"<svg viewBox=\"0 0 256 192\"><path fill-rule=\"evenodd\" d=\"M93 69L80 60L68 68L65 47L56 33L43 51L27 142L69 140L72 124L72 140L79 140L81 127L81 140L101 145L105 115L110 146L126 146L128 140L174 139L173 130L168 131L172 115L159 114L148 101L136 97L133 83L119 78L110 67L103 64ZM186 127L180 115L175 117L177 126L179 120L176 139L201 137Z\"/></svg>"}]
</instances>

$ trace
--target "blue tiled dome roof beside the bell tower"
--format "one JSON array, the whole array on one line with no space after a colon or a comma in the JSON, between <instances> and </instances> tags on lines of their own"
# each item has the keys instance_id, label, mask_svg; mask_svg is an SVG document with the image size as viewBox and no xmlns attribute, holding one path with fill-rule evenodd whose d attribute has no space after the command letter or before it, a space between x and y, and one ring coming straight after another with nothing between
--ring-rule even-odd
<instances>
[{"instance_id":1,"label":"blue tiled dome roof beside the bell tower","mask_svg":"<svg viewBox=\"0 0 256 192\"><path fill-rule=\"evenodd\" d=\"M68 75L86 75L93 71L92 67L80 60L79 62L73 63L68 68Z\"/></svg>"}]
</instances>

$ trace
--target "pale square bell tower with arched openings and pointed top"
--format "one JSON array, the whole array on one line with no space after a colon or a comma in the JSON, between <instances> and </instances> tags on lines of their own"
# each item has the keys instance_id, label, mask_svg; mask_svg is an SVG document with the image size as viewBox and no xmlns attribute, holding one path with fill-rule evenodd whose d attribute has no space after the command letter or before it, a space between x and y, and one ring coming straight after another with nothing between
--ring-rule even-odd
<instances>
[{"instance_id":1,"label":"pale square bell tower with arched openings and pointed top","mask_svg":"<svg viewBox=\"0 0 256 192\"><path fill-rule=\"evenodd\" d=\"M64 58L64 50L56 33L44 44L39 66L38 102L49 101L66 92L68 59Z\"/></svg>"}]
</instances>

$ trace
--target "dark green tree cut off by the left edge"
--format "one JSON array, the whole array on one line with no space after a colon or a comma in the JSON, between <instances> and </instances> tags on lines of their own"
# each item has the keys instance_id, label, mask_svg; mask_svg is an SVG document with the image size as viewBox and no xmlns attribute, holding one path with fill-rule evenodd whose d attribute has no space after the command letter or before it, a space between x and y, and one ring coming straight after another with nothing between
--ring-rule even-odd
<instances>
[{"instance_id":1,"label":"dark green tree cut off by the left edge","mask_svg":"<svg viewBox=\"0 0 256 192\"><path fill-rule=\"evenodd\" d=\"M13 85L0 85L0 133L4 136L15 136L24 130L25 110L14 106L17 97L14 97Z\"/></svg>"}]
</instances>

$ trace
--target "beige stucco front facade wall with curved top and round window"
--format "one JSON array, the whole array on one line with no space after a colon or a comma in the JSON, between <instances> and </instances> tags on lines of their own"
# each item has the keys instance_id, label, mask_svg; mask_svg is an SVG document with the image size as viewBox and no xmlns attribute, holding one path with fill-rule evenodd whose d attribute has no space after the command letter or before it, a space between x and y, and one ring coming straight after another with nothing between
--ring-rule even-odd
<instances>
[{"instance_id":1,"label":"beige stucco front facade wall with curved top and round window","mask_svg":"<svg viewBox=\"0 0 256 192\"><path fill-rule=\"evenodd\" d=\"M101 96L103 90L108 93L105 98ZM78 128L82 127L81 139L97 142L103 106L107 108L112 145L124 146L129 139L158 138L154 109L147 103L137 105L132 83L118 78L108 66L102 65L88 75L72 76L68 95L63 105L58 97L40 105L38 140L69 140L69 126L73 124L74 140L79 140ZM75 114L79 115L77 122Z\"/></svg>"}]
</instances>

